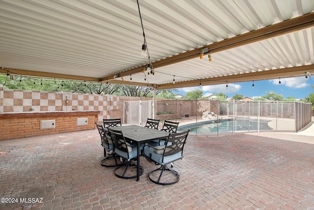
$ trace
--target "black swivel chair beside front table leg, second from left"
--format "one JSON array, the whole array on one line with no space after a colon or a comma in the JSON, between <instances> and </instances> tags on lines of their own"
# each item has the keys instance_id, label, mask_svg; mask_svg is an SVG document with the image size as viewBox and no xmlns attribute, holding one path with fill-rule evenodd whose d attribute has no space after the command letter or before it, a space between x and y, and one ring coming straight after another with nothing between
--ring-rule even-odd
<instances>
[{"instance_id":1,"label":"black swivel chair beside front table leg, second from left","mask_svg":"<svg viewBox=\"0 0 314 210\"><path fill-rule=\"evenodd\" d=\"M118 166L114 174L122 179L136 178L137 165L132 161L137 157L137 144L131 141L126 141L122 131L112 130L108 127L108 131L111 135L112 142L114 144L115 152L125 158L127 161L125 164ZM129 170L128 170L129 169ZM140 166L140 176L144 173L144 168Z\"/></svg>"}]
</instances>

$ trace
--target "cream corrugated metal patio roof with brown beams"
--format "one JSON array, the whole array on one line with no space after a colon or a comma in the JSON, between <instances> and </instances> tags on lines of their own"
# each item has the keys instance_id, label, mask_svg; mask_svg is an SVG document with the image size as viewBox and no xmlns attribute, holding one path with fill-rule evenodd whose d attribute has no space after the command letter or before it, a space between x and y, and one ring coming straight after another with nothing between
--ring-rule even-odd
<instances>
[{"instance_id":1,"label":"cream corrugated metal patio roof with brown beams","mask_svg":"<svg viewBox=\"0 0 314 210\"><path fill-rule=\"evenodd\" d=\"M136 0L0 0L0 73L157 89L314 73L314 0L138 2L154 76Z\"/></svg>"}]
</instances>

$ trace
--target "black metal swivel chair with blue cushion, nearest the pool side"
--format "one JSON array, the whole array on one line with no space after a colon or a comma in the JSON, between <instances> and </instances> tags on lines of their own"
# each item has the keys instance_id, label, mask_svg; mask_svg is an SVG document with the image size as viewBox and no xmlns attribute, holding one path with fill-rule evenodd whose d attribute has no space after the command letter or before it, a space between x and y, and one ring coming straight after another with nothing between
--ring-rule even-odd
<instances>
[{"instance_id":1,"label":"black metal swivel chair with blue cushion, nearest the pool side","mask_svg":"<svg viewBox=\"0 0 314 210\"><path fill-rule=\"evenodd\" d=\"M180 133L171 133L163 146L151 146L145 144L143 146L143 155L150 161L161 165L149 173L149 179L156 184L169 185L177 183L180 180L178 172L167 167L174 161L183 158L183 147L186 142L189 130Z\"/></svg>"}]
</instances>

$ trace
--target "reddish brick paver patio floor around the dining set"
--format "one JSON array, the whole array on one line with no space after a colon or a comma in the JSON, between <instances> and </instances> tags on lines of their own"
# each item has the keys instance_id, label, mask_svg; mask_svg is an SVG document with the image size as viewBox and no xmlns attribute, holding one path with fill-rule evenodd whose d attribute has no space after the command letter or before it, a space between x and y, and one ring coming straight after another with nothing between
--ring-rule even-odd
<instances>
[{"instance_id":1,"label":"reddish brick paver patio floor around the dining set","mask_svg":"<svg viewBox=\"0 0 314 210\"><path fill-rule=\"evenodd\" d=\"M148 179L159 166L144 157L140 181L115 177L100 144L97 130L0 141L0 198L43 198L0 209L314 209L314 144L189 136L174 167L181 180L169 186Z\"/></svg>"}]
</instances>

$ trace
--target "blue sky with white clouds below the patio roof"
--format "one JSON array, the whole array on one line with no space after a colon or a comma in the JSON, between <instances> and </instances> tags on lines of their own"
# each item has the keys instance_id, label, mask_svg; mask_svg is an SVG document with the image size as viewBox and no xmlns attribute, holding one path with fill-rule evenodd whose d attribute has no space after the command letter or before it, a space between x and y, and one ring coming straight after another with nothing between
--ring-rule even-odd
<instances>
[{"instance_id":1,"label":"blue sky with white clouds below the patio roof","mask_svg":"<svg viewBox=\"0 0 314 210\"><path fill-rule=\"evenodd\" d=\"M305 76L281 78L280 82L281 84L279 84L279 79L254 81L254 87L252 87L253 82L228 83L228 89L226 89L226 84L198 86L181 88L178 89L178 92L174 93L184 96L187 92L201 88L204 96L223 92L228 95L229 98L235 94L255 98L266 95L266 91L273 91L279 95L282 94L284 98L294 97L296 99L305 99L309 94L314 93L314 90L311 88L311 85L314 86L314 76L311 78L305 78Z\"/></svg>"}]
</instances>

